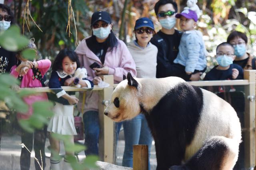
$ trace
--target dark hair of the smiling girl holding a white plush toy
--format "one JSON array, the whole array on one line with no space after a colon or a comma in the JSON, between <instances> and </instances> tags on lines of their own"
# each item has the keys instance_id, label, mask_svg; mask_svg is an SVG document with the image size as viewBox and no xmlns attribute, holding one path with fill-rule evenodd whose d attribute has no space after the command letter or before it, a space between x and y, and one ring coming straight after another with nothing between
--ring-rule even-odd
<instances>
[{"instance_id":1,"label":"dark hair of the smiling girl holding a white plush toy","mask_svg":"<svg viewBox=\"0 0 256 170\"><path fill-rule=\"evenodd\" d=\"M60 50L58 55L55 57L52 65L52 71L62 70L62 60L68 57L71 61L76 62L77 67L80 67L80 61L78 55L72 49L64 48Z\"/></svg>"}]
</instances>

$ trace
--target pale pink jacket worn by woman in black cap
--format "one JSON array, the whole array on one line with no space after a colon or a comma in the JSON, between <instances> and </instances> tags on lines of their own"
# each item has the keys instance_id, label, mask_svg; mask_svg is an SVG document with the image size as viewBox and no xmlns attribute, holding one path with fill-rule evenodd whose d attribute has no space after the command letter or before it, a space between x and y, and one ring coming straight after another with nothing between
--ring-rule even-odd
<instances>
[{"instance_id":1,"label":"pale pink jacket worn by woman in black cap","mask_svg":"<svg viewBox=\"0 0 256 170\"><path fill-rule=\"evenodd\" d=\"M76 47L76 53L78 54L82 67L87 69L87 79L93 80L96 77L94 70L89 66L96 62L100 66L103 66L100 59L87 47L86 40L82 40ZM123 75L127 75L128 72L132 76L136 76L136 65L130 54L130 51L126 47L125 43L118 40L118 46L112 51L107 51L105 55L104 66L109 67L108 75L114 75L114 83L119 83L123 80ZM82 93L79 95L78 109L81 111L82 106ZM84 112L86 111L98 111L98 93L87 91L86 102L84 105Z\"/></svg>"}]
</instances>

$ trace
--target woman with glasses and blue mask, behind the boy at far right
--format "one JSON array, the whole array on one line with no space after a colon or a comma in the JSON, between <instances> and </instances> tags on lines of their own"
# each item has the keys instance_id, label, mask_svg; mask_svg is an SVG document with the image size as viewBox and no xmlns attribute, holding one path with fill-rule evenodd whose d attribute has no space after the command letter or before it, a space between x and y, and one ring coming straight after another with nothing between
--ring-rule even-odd
<instances>
[{"instance_id":1,"label":"woman with glasses and blue mask, behind the boy at far right","mask_svg":"<svg viewBox=\"0 0 256 170\"><path fill-rule=\"evenodd\" d=\"M234 60L235 64L240 65L244 70L256 69L255 58L252 57L250 53L246 53L246 45L248 42L246 34L239 31L234 31L229 34L227 42L234 47L234 55L236 55L236 58Z\"/></svg>"}]
</instances>

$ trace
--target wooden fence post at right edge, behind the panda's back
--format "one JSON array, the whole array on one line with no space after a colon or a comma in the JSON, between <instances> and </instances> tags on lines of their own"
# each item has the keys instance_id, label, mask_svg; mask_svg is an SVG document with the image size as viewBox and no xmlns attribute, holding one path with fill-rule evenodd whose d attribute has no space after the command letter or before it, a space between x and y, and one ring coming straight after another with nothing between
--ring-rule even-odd
<instances>
[{"instance_id":1,"label":"wooden fence post at right edge, behind the panda's back","mask_svg":"<svg viewBox=\"0 0 256 170\"><path fill-rule=\"evenodd\" d=\"M255 166L255 102L248 100L248 97L255 95L256 71L245 70L244 79L249 81L245 86L245 112L244 112L244 160L245 167Z\"/></svg>"}]
</instances>

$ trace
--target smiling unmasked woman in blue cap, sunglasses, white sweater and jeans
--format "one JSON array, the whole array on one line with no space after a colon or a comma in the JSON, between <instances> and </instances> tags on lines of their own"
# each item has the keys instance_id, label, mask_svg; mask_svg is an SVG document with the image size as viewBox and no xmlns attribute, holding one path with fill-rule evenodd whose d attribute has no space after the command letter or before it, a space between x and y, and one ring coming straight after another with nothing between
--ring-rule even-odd
<instances>
[{"instance_id":1,"label":"smiling unmasked woman in blue cap, sunglasses, white sweater and jeans","mask_svg":"<svg viewBox=\"0 0 256 170\"><path fill-rule=\"evenodd\" d=\"M154 24L148 18L136 20L134 26L136 40L128 44L128 49L136 64L138 78L156 78L157 47L150 43L155 34ZM122 166L133 167L133 145L148 145L148 169L150 170L150 150L152 134L145 115L142 113L130 121L123 122L124 127L124 156Z\"/></svg>"}]
</instances>

